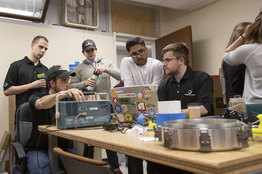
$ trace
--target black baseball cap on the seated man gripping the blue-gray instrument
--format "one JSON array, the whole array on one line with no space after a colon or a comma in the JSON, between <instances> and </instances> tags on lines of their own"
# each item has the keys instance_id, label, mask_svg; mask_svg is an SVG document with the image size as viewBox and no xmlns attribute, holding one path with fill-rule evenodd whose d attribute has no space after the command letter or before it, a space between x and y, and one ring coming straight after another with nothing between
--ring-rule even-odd
<instances>
[{"instance_id":1,"label":"black baseball cap on the seated man gripping the blue-gray instrument","mask_svg":"<svg viewBox=\"0 0 262 174\"><path fill-rule=\"evenodd\" d=\"M47 71L46 79L47 81L51 81L55 77L64 79L69 76L75 76L75 73L66 70L63 66L54 65Z\"/></svg>"}]
</instances>

